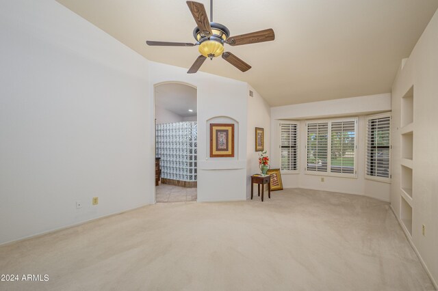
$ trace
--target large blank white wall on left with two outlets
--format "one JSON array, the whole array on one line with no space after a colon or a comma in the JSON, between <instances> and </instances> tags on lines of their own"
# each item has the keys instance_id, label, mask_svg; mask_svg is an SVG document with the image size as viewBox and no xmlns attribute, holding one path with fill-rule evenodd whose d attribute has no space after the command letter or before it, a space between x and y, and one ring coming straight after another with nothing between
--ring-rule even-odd
<instances>
[{"instance_id":1,"label":"large blank white wall on left with two outlets","mask_svg":"<svg viewBox=\"0 0 438 291\"><path fill-rule=\"evenodd\" d=\"M53 0L0 38L0 244L153 203L148 61Z\"/></svg>"}]
</instances>

